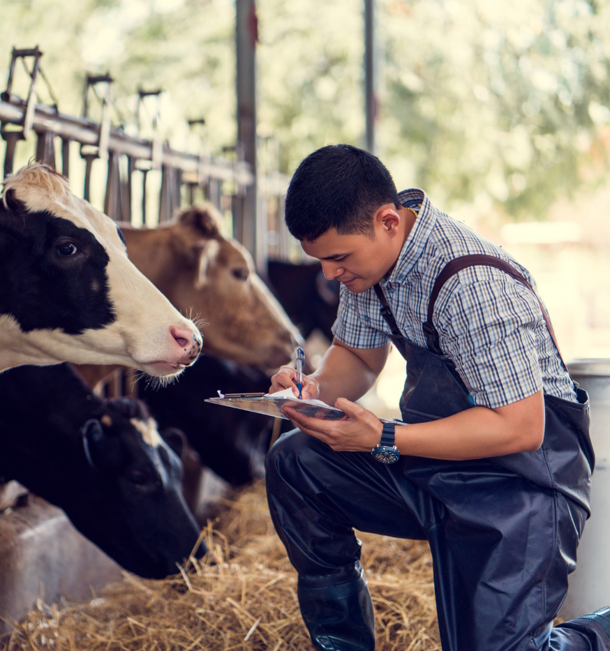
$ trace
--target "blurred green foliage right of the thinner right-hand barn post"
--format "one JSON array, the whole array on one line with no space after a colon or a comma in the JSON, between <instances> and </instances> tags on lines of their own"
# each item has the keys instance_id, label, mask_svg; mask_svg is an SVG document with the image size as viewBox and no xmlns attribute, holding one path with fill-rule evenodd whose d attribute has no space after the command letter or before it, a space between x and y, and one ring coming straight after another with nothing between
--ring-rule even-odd
<instances>
[{"instance_id":1,"label":"blurred green foliage right of the thinner right-hand barn post","mask_svg":"<svg viewBox=\"0 0 610 651\"><path fill-rule=\"evenodd\" d=\"M387 0L387 154L448 200L544 216L603 178L610 5Z\"/></svg>"}]
</instances>

